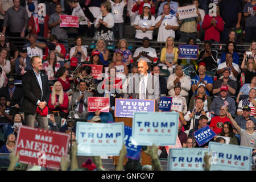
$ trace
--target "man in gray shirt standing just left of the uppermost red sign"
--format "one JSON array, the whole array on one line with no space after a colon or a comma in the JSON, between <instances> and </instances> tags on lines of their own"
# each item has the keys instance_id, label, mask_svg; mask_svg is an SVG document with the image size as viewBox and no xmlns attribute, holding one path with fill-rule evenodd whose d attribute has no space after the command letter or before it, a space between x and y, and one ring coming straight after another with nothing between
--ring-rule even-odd
<instances>
[{"instance_id":1,"label":"man in gray shirt standing just left of the uppermost red sign","mask_svg":"<svg viewBox=\"0 0 256 182\"><path fill-rule=\"evenodd\" d=\"M48 25L51 28L51 34L56 35L57 39L67 39L68 38L67 28L60 27L60 23L62 22L62 20L60 19L60 15L64 15L61 10L62 10L61 5L56 4L55 5L56 13L49 16Z\"/></svg>"}]
</instances>

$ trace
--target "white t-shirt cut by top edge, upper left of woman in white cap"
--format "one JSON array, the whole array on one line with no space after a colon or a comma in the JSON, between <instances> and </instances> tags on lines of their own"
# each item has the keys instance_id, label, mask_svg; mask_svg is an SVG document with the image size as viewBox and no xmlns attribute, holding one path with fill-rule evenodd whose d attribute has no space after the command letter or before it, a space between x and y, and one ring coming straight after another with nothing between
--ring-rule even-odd
<instances>
[{"instance_id":1,"label":"white t-shirt cut by top edge, upper left of woman in white cap","mask_svg":"<svg viewBox=\"0 0 256 182\"><path fill-rule=\"evenodd\" d=\"M125 7L125 2L114 3L113 1L110 1L110 3L112 14L114 15L114 22L123 23L123 8Z\"/></svg>"}]
</instances>

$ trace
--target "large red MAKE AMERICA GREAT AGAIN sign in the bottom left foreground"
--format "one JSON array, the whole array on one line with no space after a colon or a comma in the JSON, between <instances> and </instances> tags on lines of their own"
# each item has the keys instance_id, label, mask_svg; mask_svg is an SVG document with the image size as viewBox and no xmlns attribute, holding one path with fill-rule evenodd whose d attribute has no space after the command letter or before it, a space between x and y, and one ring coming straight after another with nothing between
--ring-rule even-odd
<instances>
[{"instance_id":1,"label":"large red MAKE AMERICA GREAT AGAIN sign in the bottom left foreground","mask_svg":"<svg viewBox=\"0 0 256 182\"><path fill-rule=\"evenodd\" d=\"M34 127L21 126L15 145L19 163L60 169L62 156L67 156L69 135Z\"/></svg>"}]
</instances>

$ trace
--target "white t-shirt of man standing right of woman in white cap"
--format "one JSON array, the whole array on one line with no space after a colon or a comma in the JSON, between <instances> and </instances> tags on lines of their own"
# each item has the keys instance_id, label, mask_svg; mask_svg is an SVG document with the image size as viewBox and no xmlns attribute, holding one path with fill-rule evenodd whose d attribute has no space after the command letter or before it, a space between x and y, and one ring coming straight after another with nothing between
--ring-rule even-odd
<instances>
[{"instance_id":1,"label":"white t-shirt of man standing right of woman in white cap","mask_svg":"<svg viewBox=\"0 0 256 182\"><path fill-rule=\"evenodd\" d=\"M155 20L155 23L158 23L161 18L162 18L162 15L158 16L158 18L156 18ZM177 23L176 16L171 14L165 15L158 30L158 42L166 42L166 39L168 38L168 36L175 38L175 31L172 29L166 30L165 28L166 24L171 26L179 26L179 24Z\"/></svg>"}]
</instances>

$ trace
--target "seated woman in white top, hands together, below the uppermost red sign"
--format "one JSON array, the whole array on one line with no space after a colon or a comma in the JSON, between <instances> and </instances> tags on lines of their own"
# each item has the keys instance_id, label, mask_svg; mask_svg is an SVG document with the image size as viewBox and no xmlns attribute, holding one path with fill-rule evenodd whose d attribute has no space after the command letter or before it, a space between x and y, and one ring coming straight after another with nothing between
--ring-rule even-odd
<instances>
[{"instance_id":1,"label":"seated woman in white top, hands together, below the uppermost red sign","mask_svg":"<svg viewBox=\"0 0 256 182\"><path fill-rule=\"evenodd\" d=\"M77 36L75 41L76 41L76 46L72 47L70 49L69 56L71 58L72 57L76 57L78 62L86 61L87 49L86 49L85 46L82 46L82 37L81 36Z\"/></svg>"}]
</instances>

